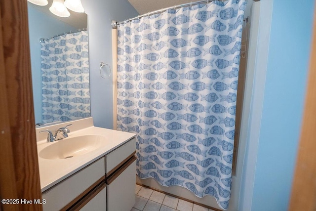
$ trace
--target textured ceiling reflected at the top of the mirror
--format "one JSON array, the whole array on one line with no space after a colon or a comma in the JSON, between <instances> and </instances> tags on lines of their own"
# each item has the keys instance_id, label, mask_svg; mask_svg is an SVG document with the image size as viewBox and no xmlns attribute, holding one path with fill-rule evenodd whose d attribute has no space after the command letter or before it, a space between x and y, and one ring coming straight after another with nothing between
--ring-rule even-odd
<instances>
[{"instance_id":1,"label":"textured ceiling reflected at the top of the mirror","mask_svg":"<svg viewBox=\"0 0 316 211\"><path fill-rule=\"evenodd\" d=\"M53 2L53 0L48 0L48 4L46 6L39 6L39 5L30 3L28 1L28 6L32 6L35 9L37 9L43 13L46 13L47 15L49 15L55 19L63 21L63 22L65 22L65 23L67 23L67 24L69 24L77 29L87 28L87 23L88 23L87 22L87 14L73 12L69 9L70 16L68 18L58 17L49 11L49 7L51 6L52 2Z\"/></svg>"}]
</instances>

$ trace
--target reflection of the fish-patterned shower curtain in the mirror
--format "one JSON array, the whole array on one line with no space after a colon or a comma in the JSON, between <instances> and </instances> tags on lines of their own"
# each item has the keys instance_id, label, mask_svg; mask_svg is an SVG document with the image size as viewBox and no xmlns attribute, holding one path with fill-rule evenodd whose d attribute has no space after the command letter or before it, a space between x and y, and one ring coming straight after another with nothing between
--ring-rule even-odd
<instances>
[{"instance_id":1,"label":"reflection of the fish-patterned shower curtain in the mirror","mask_svg":"<svg viewBox=\"0 0 316 211\"><path fill-rule=\"evenodd\" d=\"M88 32L41 42L42 122L90 117Z\"/></svg>"}]
</instances>

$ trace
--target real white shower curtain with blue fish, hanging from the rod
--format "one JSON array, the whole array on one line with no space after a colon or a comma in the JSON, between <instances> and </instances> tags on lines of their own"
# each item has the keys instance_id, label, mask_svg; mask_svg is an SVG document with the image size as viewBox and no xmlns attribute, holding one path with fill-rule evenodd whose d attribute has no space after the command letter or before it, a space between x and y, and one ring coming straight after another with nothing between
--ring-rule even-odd
<instances>
[{"instance_id":1,"label":"real white shower curtain with blue fish, hanging from the rod","mask_svg":"<svg viewBox=\"0 0 316 211\"><path fill-rule=\"evenodd\" d=\"M168 9L118 27L118 129L137 174L228 209L245 0Z\"/></svg>"}]
</instances>

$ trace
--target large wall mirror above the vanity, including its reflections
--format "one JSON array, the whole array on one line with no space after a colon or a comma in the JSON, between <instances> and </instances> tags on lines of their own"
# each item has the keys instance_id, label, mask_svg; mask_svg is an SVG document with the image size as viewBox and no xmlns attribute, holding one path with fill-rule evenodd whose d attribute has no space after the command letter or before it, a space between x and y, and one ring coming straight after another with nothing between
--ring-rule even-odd
<instances>
[{"instance_id":1,"label":"large wall mirror above the vanity, including its reflections","mask_svg":"<svg viewBox=\"0 0 316 211\"><path fill-rule=\"evenodd\" d=\"M49 11L52 1L28 2L37 126L90 116L87 15L58 17Z\"/></svg>"}]
</instances>

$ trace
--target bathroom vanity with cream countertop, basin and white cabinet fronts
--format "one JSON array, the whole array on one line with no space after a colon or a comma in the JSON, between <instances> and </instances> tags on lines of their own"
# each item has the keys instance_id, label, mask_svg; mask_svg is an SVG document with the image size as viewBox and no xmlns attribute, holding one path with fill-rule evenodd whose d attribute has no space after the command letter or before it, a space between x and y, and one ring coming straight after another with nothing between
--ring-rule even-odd
<instances>
[{"instance_id":1,"label":"bathroom vanity with cream countertop, basin and white cabinet fronts","mask_svg":"<svg viewBox=\"0 0 316 211\"><path fill-rule=\"evenodd\" d=\"M46 142L36 129L44 211L130 211L135 203L135 134L72 121L67 138Z\"/></svg>"}]
</instances>

